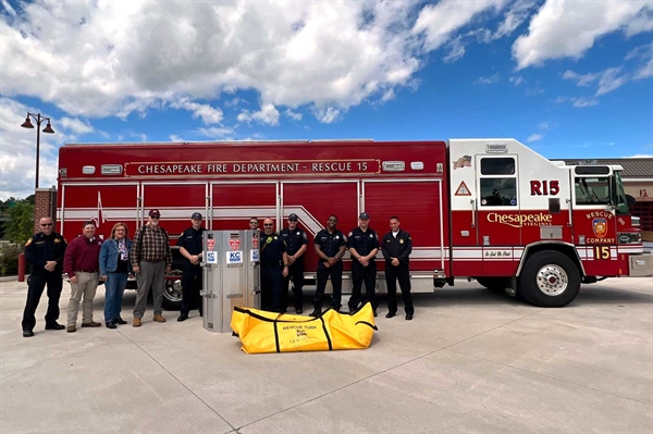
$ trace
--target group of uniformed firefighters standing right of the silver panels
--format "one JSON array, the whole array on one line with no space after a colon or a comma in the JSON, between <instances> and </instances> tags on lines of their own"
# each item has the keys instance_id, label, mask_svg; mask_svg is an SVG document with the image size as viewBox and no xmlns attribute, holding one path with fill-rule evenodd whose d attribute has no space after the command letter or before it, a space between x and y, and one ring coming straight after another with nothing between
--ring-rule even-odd
<instances>
[{"instance_id":1,"label":"group of uniformed firefighters standing right of the silver panels","mask_svg":"<svg viewBox=\"0 0 653 434\"><path fill-rule=\"evenodd\" d=\"M288 284L293 281L293 302L296 313L303 313L304 258L307 250L308 237L297 227L296 214L288 215L288 226L279 234L274 232L274 221L266 219L260 236L261 266L261 307L263 310L285 312L288 307ZM317 286L313 297L311 317L322 314L324 289L331 278L333 294L331 307L335 310L342 307L343 257L349 250L352 258L352 297L348 301L350 312L358 310L365 302L372 305L374 317L379 301L375 294L377 253L381 250L385 260L385 284L387 287L386 318L397 313L397 281L404 299L406 320L412 320L415 308L410 295L409 256L412 251L410 235L401 230L399 219L390 219L390 232L380 240L377 233L369 226L370 215L367 212L358 216L358 226L345 236L337 228L337 216L330 215L326 227L315 238L315 252L318 256ZM258 228L258 219L251 218L249 226ZM362 296L365 283L366 294Z\"/></svg>"}]
</instances>

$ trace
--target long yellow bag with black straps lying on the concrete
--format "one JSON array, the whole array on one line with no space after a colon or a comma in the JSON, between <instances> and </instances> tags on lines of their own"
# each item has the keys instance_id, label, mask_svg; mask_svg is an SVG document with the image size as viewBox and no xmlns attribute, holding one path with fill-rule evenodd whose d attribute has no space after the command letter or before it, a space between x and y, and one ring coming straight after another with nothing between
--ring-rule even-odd
<instances>
[{"instance_id":1,"label":"long yellow bag with black straps lying on the concrete","mask_svg":"<svg viewBox=\"0 0 653 434\"><path fill-rule=\"evenodd\" d=\"M378 330L369 302L353 315L328 309L319 318L234 308L231 327L247 354L368 348Z\"/></svg>"}]
</instances>

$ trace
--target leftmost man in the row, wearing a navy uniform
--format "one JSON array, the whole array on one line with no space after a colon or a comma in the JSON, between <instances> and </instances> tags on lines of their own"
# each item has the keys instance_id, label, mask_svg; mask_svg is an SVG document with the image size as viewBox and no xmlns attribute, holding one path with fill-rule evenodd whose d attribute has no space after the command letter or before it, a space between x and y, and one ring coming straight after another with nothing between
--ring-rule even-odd
<instances>
[{"instance_id":1,"label":"leftmost man in the row, wearing a navy uniform","mask_svg":"<svg viewBox=\"0 0 653 434\"><path fill-rule=\"evenodd\" d=\"M63 257L67 243L65 238L54 232L54 222L50 218L39 221L41 231L34 234L25 244L25 260L29 264L29 287L27 302L23 312L23 336L34 336L36 325L36 308L48 285L48 312L46 313L46 330L64 330L65 325L59 324L59 298L63 281Z\"/></svg>"}]
</instances>

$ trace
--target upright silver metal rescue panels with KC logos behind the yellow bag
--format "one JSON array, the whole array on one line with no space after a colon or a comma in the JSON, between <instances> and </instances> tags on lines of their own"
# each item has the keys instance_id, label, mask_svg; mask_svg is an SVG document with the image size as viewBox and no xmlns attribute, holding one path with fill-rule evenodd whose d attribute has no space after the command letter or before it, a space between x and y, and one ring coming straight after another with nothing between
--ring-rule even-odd
<instances>
[{"instance_id":1,"label":"upright silver metal rescue panels with KC logos behind the yellow bag","mask_svg":"<svg viewBox=\"0 0 653 434\"><path fill-rule=\"evenodd\" d=\"M260 309L257 231L204 233L204 327L230 333L235 307Z\"/></svg>"}]
</instances>

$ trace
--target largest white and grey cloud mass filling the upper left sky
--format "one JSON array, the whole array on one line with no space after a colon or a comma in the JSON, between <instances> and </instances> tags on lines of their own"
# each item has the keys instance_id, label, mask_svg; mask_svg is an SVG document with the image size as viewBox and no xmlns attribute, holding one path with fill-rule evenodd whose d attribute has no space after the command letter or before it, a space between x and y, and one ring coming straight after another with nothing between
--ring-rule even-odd
<instances>
[{"instance_id":1,"label":"largest white and grey cloud mass filling the upper left sky","mask_svg":"<svg viewBox=\"0 0 653 434\"><path fill-rule=\"evenodd\" d=\"M26 2L17 17L0 15L0 58L12 60L0 80L3 95L37 97L70 116L125 119L175 104L219 124L220 109L193 101L242 89L257 92L262 107L343 113L414 83L421 66L410 33L417 8L417 1ZM263 111L260 121L274 116Z\"/></svg>"}]
</instances>

